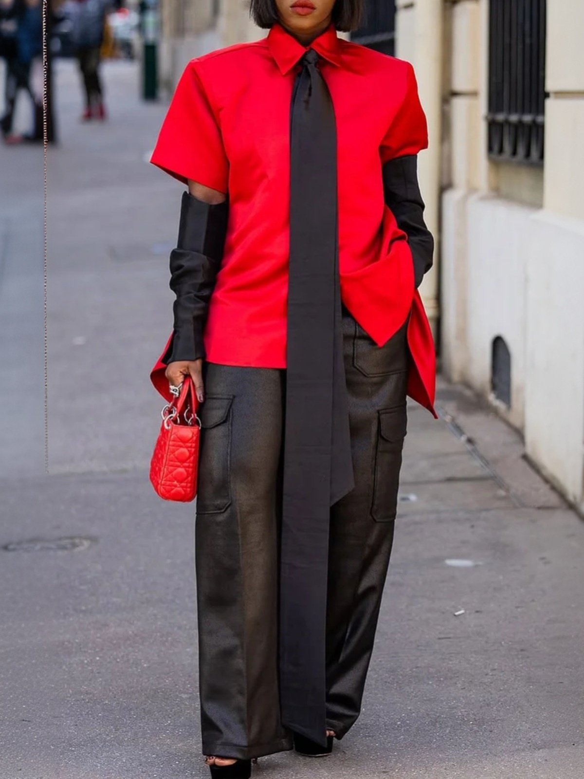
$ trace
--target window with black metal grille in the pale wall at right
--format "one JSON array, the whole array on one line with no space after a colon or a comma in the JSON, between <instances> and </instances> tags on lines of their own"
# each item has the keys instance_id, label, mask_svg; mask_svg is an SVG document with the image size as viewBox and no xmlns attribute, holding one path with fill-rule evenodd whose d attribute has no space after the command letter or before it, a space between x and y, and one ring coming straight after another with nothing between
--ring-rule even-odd
<instances>
[{"instance_id":1,"label":"window with black metal grille in the pale wall at right","mask_svg":"<svg viewBox=\"0 0 584 779\"><path fill-rule=\"evenodd\" d=\"M490 0L488 151L544 161L546 0Z\"/></svg>"}]
</instances>

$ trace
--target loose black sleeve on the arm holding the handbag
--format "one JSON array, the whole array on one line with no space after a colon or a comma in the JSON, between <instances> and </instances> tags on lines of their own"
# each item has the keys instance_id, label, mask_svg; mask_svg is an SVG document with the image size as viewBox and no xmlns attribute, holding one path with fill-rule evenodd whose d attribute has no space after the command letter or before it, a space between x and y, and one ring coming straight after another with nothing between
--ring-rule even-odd
<instances>
[{"instance_id":1,"label":"loose black sleeve on the arm holding the handbag","mask_svg":"<svg viewBox=\"0 0 584 779\"><path fill-rule=\"evenodd\" d=\"M211 206L183 192L176 249L171 251L170 287L174 329L167 363L205 357L203 332L227 234L227 200Z\"/></svg>"}]
</instances>

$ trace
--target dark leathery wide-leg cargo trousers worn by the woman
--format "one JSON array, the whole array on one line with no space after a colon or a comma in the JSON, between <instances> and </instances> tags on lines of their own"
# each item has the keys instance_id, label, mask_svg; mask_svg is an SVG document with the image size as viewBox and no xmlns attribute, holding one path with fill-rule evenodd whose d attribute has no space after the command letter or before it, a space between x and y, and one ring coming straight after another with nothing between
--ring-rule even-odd
<instances>
[{"instance_id":1,"label":"dark leathery wide-leg cargo trousers worn by the woman","mask_svg":"<svg viewBox=\"0 0 584 779\"><path fill-rule=\"evenodd\" d=\"M406 324L377 347L343 309L355 488L331 508L327 728L361 710L392 550L406 435ZM278 589L285 371L206 363L195 562L204 754L290 749L280 722Z\"/></svg>"}]
</instances>

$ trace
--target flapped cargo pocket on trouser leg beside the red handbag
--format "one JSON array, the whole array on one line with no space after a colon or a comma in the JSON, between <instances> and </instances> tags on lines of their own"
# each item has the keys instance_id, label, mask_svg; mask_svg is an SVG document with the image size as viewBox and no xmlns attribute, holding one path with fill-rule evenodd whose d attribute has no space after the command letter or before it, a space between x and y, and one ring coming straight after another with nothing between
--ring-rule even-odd
<instances>
[{"instance_id":1,"label":"flapped cargo pocket on trouser leg beside the red handbag","mask_svg":"<svg viewBox=\"0 0 584 779\"><path fill-rule=\"evenodd\" d=\"M201 406L197 514L216 514L231 502L231 404L233 396L206 397Z\"/></svg>"}]
</instances>

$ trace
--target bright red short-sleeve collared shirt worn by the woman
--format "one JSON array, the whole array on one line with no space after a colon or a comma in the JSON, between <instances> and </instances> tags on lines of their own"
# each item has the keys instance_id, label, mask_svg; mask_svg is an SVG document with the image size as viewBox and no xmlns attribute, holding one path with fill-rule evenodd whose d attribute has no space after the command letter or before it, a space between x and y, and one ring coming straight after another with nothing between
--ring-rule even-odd
<instances>
[{"instance_id":1,"label":"bright red short-sleeve collared shirt worn by the woman","mask_svg":"<svg viewBox=\"0 0 584 779\"><path fill-rule=\"evenodd\" d=\"M329 26L311 43L335 108L339 272L343 303L379 345L410 319L414 362L431 408L434 346L406 234L385 205L382 164L427 147L408 62L344 41ZM229 224L204 334L223 365L286 365L290 238L290 100L306 48L279 24L266 38L192 59L174 92L151 162L229 193ZM416 329L424 333L416 333ZM417 344L432 356L416 360ZM432 375L431 375L432 374ZM420 378L420 377L418 377ZM418 393L419 394L419 393ZM432 410L432 409L431 409Z\"/></svg>"}]
</instances>

